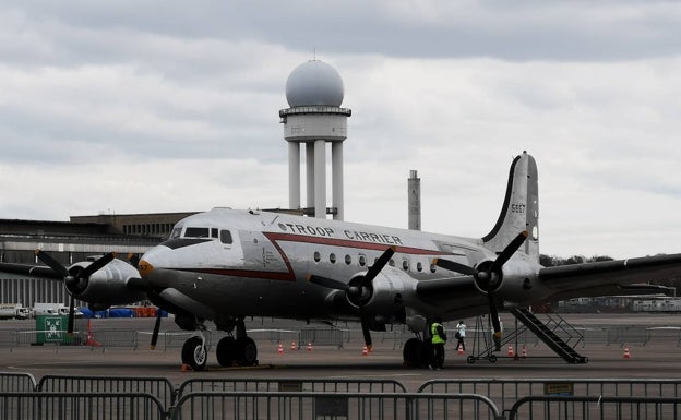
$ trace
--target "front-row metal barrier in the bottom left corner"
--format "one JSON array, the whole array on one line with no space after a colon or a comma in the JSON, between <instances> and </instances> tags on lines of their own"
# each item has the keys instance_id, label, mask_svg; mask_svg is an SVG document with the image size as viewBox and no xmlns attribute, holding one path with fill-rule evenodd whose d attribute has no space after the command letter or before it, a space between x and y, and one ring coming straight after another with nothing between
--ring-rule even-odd
<instances>
[{"instance_id":1,"label":"front-row metal barrier in the bottom left corner","mask_svg":"<svg viewBox=\"0 0 681 420\"><path fill-rule=\"evenodd\" d=\"M0 393L3 420L163 420L166 410L153 395L132 393Z\"/></svg>"}]
</instances>

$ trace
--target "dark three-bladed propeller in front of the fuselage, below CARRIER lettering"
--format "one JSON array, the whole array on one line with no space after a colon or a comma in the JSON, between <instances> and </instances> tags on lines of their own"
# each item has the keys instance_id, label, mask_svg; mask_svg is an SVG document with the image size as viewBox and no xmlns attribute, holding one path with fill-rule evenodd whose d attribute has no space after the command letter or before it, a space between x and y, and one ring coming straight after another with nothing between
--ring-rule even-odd
<instances>
[{"instance_id":1,"label":"dark three-bladed propeller in front of the fuselage, below CARRIER lettering","mask_svg":"<svg viewBox=\"0 0 681 420\"><path fill-rule=\"evenodd\" d=\"M347 295L348 300L357 304L359 308L359 320L362 327L362 335L365 336L365 344L367 345L367 349L369 351L371 351L372 348L371 332L369 329L371 317L365 313L363 307L367 302L369 302L373 293L373 279L390 262L394 253L395 247L386 249L381 256L377 259L373 265L369 267L367 274L353 278L349 284L324 276L318 276L315 274L308 275L308 281L327 287L330 289L343 290Z\"/></svg>"}]
</instances>

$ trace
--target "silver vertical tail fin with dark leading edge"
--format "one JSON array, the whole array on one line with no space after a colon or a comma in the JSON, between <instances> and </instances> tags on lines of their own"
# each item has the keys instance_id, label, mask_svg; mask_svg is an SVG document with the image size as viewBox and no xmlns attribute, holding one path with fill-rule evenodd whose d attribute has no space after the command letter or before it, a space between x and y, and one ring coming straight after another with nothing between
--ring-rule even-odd
<instances>
[{"instance_id":1,"label":"silver vertical tail fin with dark leading edge","mask_svg":"<svg viewBox=\"0 0 681 420\"><path fill-rule=\"evenodd\" d=\"M519 251L539 261L537 163L527 152L513 159L499 220L482 241L491 250L501 252L523 230L529 235Z\"/></svg>"}]
</instances>

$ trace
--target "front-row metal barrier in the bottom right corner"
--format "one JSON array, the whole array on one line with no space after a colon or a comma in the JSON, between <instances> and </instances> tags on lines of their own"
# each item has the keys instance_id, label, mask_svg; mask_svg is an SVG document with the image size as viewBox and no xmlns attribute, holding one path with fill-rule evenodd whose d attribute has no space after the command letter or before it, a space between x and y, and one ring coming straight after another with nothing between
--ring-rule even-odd
<instances>
[{"instance_id":1,"label":"front-row metal barrier in the bottom right corner","mask_svg":"<svg viewBox=\"0 0 681 420\"><path fill-rule=\"evenodd\" d=\"M681 418L681 399L662 397L525 397L509 410L509 420L671 420Z\"/></svg>"}]
</instances>

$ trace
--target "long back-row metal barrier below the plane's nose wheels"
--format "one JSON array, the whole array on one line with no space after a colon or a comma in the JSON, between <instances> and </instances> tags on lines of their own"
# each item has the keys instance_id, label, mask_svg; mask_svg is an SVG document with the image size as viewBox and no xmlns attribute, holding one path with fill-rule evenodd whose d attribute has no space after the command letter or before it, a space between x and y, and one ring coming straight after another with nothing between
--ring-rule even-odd
<instances>
[{"instance_id":1,"label":"long back-row metal barrier below the plane's nose wheels","mask_svg":"<svg viewBox=\"0 0 681 420\"><path fill-rule=\"evenodd\" d=\"M182 383L179 397L198 392L297 392L297 393L406 393L394 380L316 379L193 379Z\"/></svg>"}]
</instances>

